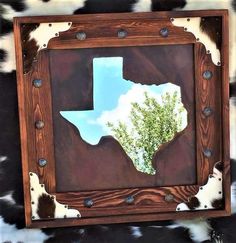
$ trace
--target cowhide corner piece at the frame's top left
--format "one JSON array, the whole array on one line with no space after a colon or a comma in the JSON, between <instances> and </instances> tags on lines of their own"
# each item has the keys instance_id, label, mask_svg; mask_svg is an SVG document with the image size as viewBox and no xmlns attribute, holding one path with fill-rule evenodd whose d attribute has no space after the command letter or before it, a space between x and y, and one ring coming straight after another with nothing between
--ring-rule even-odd
<instances>
[{"instance_id":1,"label":"cowhide corner piece at the frame's top left","mask_svg":"<svg viewBox=\"0 0 236 243\"><path fill-rule=\"evenodd\" d=\"M60 32L69 30L72 22L23 24L22 49L24 58L24 74L31 69L32 63L37 61L37 54L40 50L46 49L52 38L57 38Z\"/></svg>"}]
</instances>

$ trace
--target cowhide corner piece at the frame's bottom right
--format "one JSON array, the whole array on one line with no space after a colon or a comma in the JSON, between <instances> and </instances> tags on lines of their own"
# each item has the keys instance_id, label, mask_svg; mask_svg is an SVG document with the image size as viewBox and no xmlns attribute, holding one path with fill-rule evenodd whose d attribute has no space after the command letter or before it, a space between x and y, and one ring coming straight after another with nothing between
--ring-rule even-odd
<instances>
[{"instance_id":1,"label":"cowhide corner piece at the frame's bottom right","mask_svg":"<svg viewBox=\"0 0 236 243\"><path fill-rule=\"evenodd\" d=\"M188 199L188 202L180 203L176 211L186 210L208 210L220 209L223 207L223 189L222 189L222 162L217 162L210 174L208 181L199 188L196 195Z\"/></svg>"}]
</instances>

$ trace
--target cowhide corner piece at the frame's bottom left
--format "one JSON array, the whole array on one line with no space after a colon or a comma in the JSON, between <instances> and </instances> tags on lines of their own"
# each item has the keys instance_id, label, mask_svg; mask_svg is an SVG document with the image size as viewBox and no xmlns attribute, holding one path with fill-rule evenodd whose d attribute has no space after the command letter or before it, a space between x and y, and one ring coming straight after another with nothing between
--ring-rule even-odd
<instances>
[{"instance_id":1,"label":"cowhide corner piece at the frame's bottom left","mask_svg":"<svg viewBox=\"0 0 236 243\"><path fill-rule=\"evenodd\" d=\"M69 209L68 205L57 202L55 196L47 193L35 173L30 172L29 175L32 220L81 217L78 210Z\"/></svg>"}]
</instances>

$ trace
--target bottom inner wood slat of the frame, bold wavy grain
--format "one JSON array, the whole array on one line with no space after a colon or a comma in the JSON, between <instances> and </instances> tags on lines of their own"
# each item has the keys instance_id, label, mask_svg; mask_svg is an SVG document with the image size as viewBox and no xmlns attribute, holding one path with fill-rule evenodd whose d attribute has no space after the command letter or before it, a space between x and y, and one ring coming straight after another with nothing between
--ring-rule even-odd
<instances>
[{"instance_id":1,"label":"bottom inner wood slat of the frame, bold wavy grain","mask_svg":"<svg viewBox=\"0 0 236 243\"><path fill-rule=\"evenodd\" d=\"M77 193L57 193L60 202L70 205L80 211L82 217L101 217L107 215L139 214L173 212L178 203L187 201L196 194L198 186L174 186L159 188L135 188L123 190L105 190ZM166 195L173 195L173 201L167 202ZM134 197L134 203L128 205L125 199ZM84 206L84 200L90 198L94 205L91 208Z\"/></svg>"}]
</instances>

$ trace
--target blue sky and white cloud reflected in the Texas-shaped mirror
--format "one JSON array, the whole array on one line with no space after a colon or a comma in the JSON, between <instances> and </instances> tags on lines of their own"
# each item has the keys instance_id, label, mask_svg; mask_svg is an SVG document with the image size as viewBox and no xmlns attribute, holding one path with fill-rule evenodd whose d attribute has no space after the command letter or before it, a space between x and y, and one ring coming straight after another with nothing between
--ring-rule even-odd
<instances>
[{"instance_id":1,"label":"blue sky and white cloud reflected in the Texas-shaped mirror","mask_svg":"<svg viewBox=\"0 0 236 243\"><path fill-rule=\"evenodd\" d=\"M94 58L94 110L61 111L60 114L79 129L81 137L87 143L94 145L102 136L112 134L106 125L108 121L113 124L117 124L118 121L125 122L129 127L131 103L142 104L145 91L161 102L163 93L172 93L176 90L180 95L180 88L171 83L158 86L142 85L123 79L122 57Z\"/></svg>"}]
</instances>

